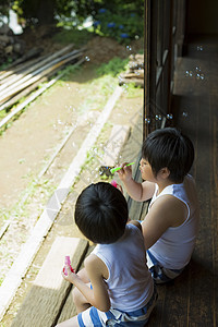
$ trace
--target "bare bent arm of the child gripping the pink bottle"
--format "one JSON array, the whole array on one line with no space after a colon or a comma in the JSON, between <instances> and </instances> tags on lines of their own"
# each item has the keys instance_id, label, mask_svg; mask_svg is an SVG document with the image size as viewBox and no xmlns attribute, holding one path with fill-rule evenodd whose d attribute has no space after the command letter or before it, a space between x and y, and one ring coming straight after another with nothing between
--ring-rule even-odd
<instances>
[{"instance_id":1,"label":"bare bent arm of the child gripping the pink bottle","mask_svg":"<svg viewBox=\"0 0 218 327\"><path fill-rule=\"evenodd\" d=\"M76 274L71 272L69 268L66 268L68 276L64 276L63 274L62 276L65 280L72 282L81 291L81 293L83 293L90 305L102 312L107 312L110 308L110 299L102 275L105 271L107 272L107 267L95 254L90 254L85 259L85 269L90 279L93 289L84 283Z\"/></svg>"}]
</instances>

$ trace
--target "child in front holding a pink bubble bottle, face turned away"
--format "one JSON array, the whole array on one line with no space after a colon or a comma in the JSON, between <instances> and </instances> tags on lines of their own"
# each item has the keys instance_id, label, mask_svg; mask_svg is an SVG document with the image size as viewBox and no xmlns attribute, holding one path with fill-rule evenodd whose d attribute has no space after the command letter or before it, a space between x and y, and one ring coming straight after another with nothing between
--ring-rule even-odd
<instances>
[{"instance_id":1,"label":"child in front holding a pink bubble bottle, face turned away","mask_svg":"<svg viewBox=\"0 0 218 327\"><path fill-rule=\"evenodd\" d=\"M85 268L63 278L74 284L78 315L68 326L145 326L157 293L146 265L141 223L129 222L122 193L109 183L87 186L75 205L75 223L97 246ZM128 225L126 225L128 223Z\"/></svg>"}]
</instances>

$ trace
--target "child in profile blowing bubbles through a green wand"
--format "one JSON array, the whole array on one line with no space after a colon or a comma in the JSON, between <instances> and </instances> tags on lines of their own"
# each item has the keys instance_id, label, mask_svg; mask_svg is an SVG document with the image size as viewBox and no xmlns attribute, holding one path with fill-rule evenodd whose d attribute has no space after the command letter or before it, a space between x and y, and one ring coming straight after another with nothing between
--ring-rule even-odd
<instances>
[{"instance_id":1,"label":"child in profile blowing bubbles through a green wand","mask_svg":"<svg viewBox=\"0 0 218 327\"><path fill-rule=\"evenodd\" d=\"M189 264L198 229L198 202L189 171L194 160L190 138L177 129L152 132L142 147L143 183L132 179L131 167L118 171L130 196L152 198L142 222L148 267L156 282L179 276Z\"/></svg>"}]
</instances>

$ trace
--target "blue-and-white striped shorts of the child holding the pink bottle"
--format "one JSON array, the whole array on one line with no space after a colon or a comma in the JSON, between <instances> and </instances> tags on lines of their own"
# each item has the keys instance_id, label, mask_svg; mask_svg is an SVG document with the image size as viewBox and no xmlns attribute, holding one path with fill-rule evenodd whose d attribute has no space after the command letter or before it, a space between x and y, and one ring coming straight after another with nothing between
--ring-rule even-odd
<instances>
[{"instance_id":1,"label":"blue-and-white striped shorts of the child holding the pink bottle","mask_svg":"<svg viewBox=\"0 0 218 327\"><path fill-rule=\"evenodd\" d=\"M149 315L157 302L157 291L154 290L149 302L142 308L133 312L122 312L111 308L108 312L101 312L95 306L77 315L77 322L81 327L100 327L100 326L135 326L143 327L148 322Z\"/></svg>"}]
</instances>

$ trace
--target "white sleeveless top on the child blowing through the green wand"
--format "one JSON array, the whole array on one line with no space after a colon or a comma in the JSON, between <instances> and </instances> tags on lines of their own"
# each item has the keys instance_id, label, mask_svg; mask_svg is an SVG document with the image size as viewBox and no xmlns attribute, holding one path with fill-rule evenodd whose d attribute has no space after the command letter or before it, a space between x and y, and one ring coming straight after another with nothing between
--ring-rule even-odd
<instances>
[{"instance_id":1,"label":"white sleeveless top on the child blowing through the green wand","mask_svg":"<svg viewBox=\"0 0 218 327\"><path fill-rule=\"evenodd\" d=\"M181 269L190 262L198 231L199 211L195 182L191 175L186 175L183 183L169 185L158 195L157 191L158 186L149 208L158 197L170 194L186 205L187 217L179 227L168 228L149 251L162 267Z\"/></svg>"}]
</instances>

